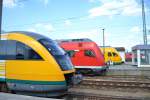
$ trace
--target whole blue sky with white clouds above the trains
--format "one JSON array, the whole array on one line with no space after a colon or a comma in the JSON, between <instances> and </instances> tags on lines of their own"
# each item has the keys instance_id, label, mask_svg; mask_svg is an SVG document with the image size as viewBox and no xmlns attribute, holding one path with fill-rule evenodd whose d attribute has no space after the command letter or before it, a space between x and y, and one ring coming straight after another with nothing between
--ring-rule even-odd
<instances>
[{"instance_id":1,"label":"whole blue sky with white clouds above the trains","mask_svg":"<svg viewBox=\"0 0 150 100\"><path fill-rule=\"evenodd\" d=\"M33 31L52 39L90 38L127 50L143 43L141 0L4 0L4 31ZM150 1L145 0L147 30ZM148 42L150 36L148 36Z\"/></svg>"}]
</instances>

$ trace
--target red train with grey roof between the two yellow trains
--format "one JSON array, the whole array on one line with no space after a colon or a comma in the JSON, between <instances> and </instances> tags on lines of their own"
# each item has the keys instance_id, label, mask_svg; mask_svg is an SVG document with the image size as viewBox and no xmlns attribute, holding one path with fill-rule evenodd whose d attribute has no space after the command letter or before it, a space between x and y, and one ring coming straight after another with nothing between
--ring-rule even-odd
<instances>
[{"instance_id":1,"label":"red train with grey roof between the two yellow trains","mask_svg":"<svg viewBox=\"0 0 150 100\"><path fill-rule=\"evenodd\" d=\"M89 39L59 40L60 46L69 54L77 72L101 74L107 66L97 44Z\"/></svg>"}]
</instances>

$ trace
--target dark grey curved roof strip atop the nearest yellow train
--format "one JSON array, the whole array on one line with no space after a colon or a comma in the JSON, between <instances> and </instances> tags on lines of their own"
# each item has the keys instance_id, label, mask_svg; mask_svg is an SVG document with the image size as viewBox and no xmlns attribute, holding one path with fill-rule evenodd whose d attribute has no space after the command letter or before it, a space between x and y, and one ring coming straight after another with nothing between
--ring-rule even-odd
<instances>
[{"instance_id":1,"label":"dark grey curved roof strip atop the nearest yellow train","mask_svg":"<svg viewBox=\"0 0 150 100\"><path fill-rule=\"evenodd\" d=\"M6 32L8 34L11 34L11 33L20 33L20 34L25 34L27 36L31 36L32 38L36 39L36 40L40 40L40 39L43 39L43 38L46 38L46 39L50 39L46 36L43 36L41 34L38 34L38 33L34 33L34 32L28 32L28 31L11 31L11 32ZM3 33L5 34L5 33Z\"/></svg>"}]
</instances>

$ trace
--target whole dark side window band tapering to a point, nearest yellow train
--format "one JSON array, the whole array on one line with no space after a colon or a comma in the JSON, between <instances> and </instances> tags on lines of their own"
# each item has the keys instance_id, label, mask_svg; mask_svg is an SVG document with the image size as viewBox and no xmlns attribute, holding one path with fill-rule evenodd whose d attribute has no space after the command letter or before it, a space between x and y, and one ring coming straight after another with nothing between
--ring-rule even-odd
<instances>
[{"instance_id":1,"label":"whole dark side window band tapering to a point, nearest yellow train","mask_svg":"<svg viewBox=\"0 0 150 100\"><path fill-rule=\"evenodd\" d=\"M15 40L0 40L0 60L42 59L32 48Z\"/></svg>"}]
</instances>

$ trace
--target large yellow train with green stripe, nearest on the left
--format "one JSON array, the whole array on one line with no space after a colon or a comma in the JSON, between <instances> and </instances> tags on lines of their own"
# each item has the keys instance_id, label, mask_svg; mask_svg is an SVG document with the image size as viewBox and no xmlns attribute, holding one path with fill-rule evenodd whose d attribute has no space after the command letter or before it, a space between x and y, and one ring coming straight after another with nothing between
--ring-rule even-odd
<instances>
[{"instance_id":1,"label":"large yellow train with green stripe, nearest on the left","mask_svg":"<svg viewBox=\"0 0 150 100\"><path fill-rule=\"evenodd\" d=\"M59 96L73 84L74 68L53 40L32 32L9 32L0 40L0 87L36 96Z\"/></svg>"}]
</instances>

